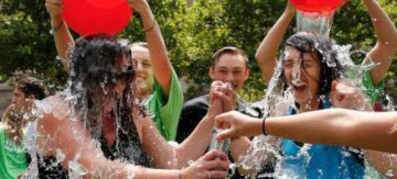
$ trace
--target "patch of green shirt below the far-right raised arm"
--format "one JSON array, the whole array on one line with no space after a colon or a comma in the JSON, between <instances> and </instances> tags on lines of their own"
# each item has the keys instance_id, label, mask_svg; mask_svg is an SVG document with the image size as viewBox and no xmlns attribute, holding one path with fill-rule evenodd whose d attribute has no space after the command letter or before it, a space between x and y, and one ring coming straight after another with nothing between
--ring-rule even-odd
<instances>
[{"instance_id":1,"label":"patch of green shirt below the far-right raised arm","mask_svg":"<svg viewBox=\"0 0 397 179\"><path fill-rule=\"evenodd\" d=\"M385 82L384 80L382 80L379 83L374 86L373 80L371 78L371 71L367 70L364 71L363 87L365 94L367 96L367 98L369 98L371 105L374 105L377 98L382 94L385 88Z\"/></svg>"}]
</instances>

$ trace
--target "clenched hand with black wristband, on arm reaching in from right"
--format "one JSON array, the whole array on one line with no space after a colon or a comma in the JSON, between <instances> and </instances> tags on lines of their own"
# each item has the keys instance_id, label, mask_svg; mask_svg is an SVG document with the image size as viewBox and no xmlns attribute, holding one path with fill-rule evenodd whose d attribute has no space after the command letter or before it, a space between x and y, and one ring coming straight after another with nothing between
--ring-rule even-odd
<instances>
[{"instance_id":1,"label":"clenched hand with black wristband, on arm reaching in from right","mask_svg":"<svg viewBox=\"0 0 397 179\"><path fill-rule=\"evenodd\" d=\"M261 134L261 120L254 119L237 111L217 115L215 118L215 125L223 128L216 136L216 139L218 141Z\"/></svg>"}]
</instances>

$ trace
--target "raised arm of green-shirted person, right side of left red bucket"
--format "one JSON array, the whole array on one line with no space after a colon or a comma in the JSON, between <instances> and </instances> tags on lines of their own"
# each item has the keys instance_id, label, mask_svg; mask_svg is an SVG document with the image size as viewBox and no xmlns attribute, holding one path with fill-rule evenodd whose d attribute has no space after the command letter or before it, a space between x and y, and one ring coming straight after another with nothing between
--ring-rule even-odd
<instances>
[{"instance_id":1,"label":"raised arm of green-shirted person, right side of left red bucket","mask_svg":"<svg viewBox=\"0 0 397 179\"><path fill-rule=\"evenodd\" d=\"M138 11L141 16L150 58L153 65L154 78L161 86L163 94L168 97L171 87L172 65L167 54L160 26L147 0L128 0L128 3L133 10Z\"/></svg>"}]
</instances>

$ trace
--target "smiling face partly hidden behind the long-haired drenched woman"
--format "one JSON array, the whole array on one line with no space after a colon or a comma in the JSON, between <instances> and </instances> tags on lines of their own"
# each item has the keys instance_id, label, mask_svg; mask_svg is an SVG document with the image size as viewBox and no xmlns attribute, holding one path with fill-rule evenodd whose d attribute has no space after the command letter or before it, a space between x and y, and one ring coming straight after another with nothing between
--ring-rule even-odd
<instances>
[{"instance_id":1,"label":"smiling face partly hidden behind the long-haired drenched woman","mask_svg":"<svg viewBox=\"0 0 397 179\"><path fill-rule=\"evenodd\" d=\"M138 61L137 83L139 85L139 94L146 97L153 91L154 75L153 66L149 54L147 43L133 43L131 45L133 58Z\"/></svg>"}]
</instances>

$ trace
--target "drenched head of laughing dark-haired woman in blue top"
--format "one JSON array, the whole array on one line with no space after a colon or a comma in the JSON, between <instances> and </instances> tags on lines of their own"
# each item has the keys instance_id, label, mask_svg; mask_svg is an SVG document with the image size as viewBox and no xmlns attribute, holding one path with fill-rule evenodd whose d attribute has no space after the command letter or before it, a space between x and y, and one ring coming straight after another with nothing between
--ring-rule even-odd
<instances>
[{"instance_id":1,"label":"drenched head of laughing dark-haired woman in blue top","mask_svg":"<svg viewBox=\"0 0 397 179\"><path fill-rule=\"evenodd\" d=\"M300 32L287 40L282 68L283 80L300 107L319 104L319 97L325 97L342 75L332 42L315 33Z\"/></svg>"}]
</instances>

